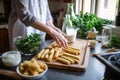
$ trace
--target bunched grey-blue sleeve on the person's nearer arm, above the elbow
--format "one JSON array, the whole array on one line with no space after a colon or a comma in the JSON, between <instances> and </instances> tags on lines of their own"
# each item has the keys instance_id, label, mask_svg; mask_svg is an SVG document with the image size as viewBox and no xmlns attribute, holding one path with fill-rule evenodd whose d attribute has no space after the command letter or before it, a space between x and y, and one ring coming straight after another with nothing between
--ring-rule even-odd
<instances>
[{"instance_id":1,"label":"bunched grey-blue sleeve on the person's nearer arm, above the elbow","mask_svg":"<svg viewBox=\"0 0 120 80\"><path fill-rule=\"evenodd\" d=\"M16 12L21 20L26 26L31 26L38 19L29 11L28 5L29 0L14 0Z\"/></svg>"}]
</instances>

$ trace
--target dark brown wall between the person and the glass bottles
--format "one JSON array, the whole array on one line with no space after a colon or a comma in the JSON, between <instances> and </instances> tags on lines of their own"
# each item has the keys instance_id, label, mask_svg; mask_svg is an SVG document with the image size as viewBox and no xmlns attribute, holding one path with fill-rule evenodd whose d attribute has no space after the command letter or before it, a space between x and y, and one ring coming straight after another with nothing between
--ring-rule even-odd
<instances>
[{"instance_id":1,"label":"dark brown wall between the person and the glass bottles","mask_svg":"<svg viewBox=\"0 0 120 80\"><path fill-rule=\"evenodd\" d=\"M54 24L61 29L63 17L65 16L67 11L67 3L49 1L49 7L52 13L52 17L54 19Z\"/></svg>"}]
</instances>

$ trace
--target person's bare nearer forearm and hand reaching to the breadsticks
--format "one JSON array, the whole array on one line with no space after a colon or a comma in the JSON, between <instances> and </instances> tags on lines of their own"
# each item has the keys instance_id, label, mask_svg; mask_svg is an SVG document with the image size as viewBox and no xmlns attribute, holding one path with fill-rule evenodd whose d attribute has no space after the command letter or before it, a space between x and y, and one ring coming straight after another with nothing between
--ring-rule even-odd
<instances>
[{"instance_id":1,"label":"person's bare nearer forearm and hand reaching to the breadsticks","mask_svg":"<svg viewBox=\"0 0 120 80\"><path fill-rule=\"evenodd\" d=\"M38 30L42 30L48 33L53 39L57 41L57 43L61 47L66 48L68 46L67 39L65 38L65 35L60 29L44 25L43 23L39 21L36 21L35 23L33 23L32 26Z\"/></svg>"}]
</instances>

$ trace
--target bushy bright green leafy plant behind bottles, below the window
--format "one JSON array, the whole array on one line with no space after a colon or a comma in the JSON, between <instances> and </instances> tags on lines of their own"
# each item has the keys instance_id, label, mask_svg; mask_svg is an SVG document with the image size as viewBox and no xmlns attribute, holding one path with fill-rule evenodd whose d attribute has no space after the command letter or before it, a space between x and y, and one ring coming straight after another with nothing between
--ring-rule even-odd
<instances>
[{"instance_id":1,"label":"bushy bright green leafy plant behind bottles, below the window","mask_svg":"<svg viewBox=\"0 0 120 80\"><path fill-rule=\"evenodd\" d=\"M76 18L71 19L73 26L79 28L77 32L77 37L86 38L87 32L93 27L96 28L97 31L101 32L103 24L110 24L110 21L107 19L100 19L95 14L85 13L82 11Z\"/></svg>"}]
</instances>

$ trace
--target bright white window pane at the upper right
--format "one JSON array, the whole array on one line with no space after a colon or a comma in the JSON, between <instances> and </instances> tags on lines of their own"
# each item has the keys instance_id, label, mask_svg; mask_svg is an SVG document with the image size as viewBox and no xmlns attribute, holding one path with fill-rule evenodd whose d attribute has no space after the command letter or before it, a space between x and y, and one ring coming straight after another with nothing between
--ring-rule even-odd
<instances>
[{"instance_id":1,"label":"bright white window pane at the upper right","mask_svg":"<svg viewBox=\"0 0 120 80\"><path fill-rule=\"evenodd\" d=\"M116 16L116 1L117 0L99 0L96 6L97 16L114 21Z\"/></svg>"}]
</instances>

